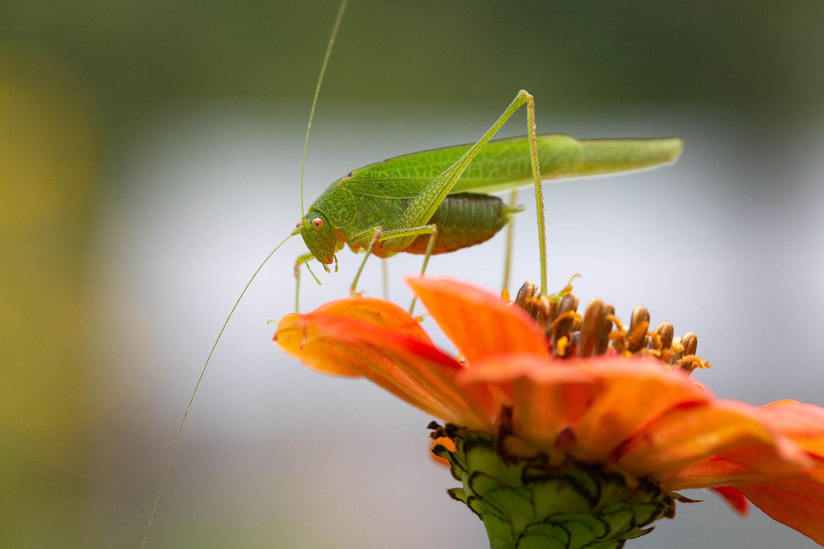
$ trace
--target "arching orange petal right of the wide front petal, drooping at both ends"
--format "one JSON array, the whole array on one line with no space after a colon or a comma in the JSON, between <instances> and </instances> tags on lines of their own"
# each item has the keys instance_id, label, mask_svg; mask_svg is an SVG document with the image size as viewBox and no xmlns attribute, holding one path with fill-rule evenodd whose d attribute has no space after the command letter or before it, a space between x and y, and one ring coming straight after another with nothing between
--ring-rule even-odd
<instances>
[{"instance_id":1,"label":"arching orange petal right of the wide front petal, drooping at both ends","mask_svg":"<svg viewBox=\"0 0 824 549\"><path fill-rule=\"evenodd\" d=\"M661 479L716 455L772 474L798 472L810 465L789 440L761 421L753 407L722 400L668 412L624 445L618 465L638 477Z\"/></svg>"}]
</instances>

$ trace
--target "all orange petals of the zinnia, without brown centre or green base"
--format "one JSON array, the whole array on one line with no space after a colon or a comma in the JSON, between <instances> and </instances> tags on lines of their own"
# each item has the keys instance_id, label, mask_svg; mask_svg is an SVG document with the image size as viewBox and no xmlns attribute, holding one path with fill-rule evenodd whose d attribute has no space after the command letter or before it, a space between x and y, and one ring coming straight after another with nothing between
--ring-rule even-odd
<instances>
[{"instance_id":1,"label":"all orange petals of the zinnia, without brown centre or green base","mask_svg":"<svg viewBox=\"0 0 824 549\"><path fill-rule=\"evenodd\" d=\"M315 370L364 376L466 432L511 435L498 450L503 463L541 454L545 470L597 464L627 486L658 486L664 500L715 487L733 508L744 511L746 495L824 544L824 408L714 398L653 356L559 360L531 316L496 295L448 278L409 283L465 363L434 347L404 310L366 297L288 314L274 340ZM469 486L457 490L470 505Z\"/></svg>"}]
</instances>

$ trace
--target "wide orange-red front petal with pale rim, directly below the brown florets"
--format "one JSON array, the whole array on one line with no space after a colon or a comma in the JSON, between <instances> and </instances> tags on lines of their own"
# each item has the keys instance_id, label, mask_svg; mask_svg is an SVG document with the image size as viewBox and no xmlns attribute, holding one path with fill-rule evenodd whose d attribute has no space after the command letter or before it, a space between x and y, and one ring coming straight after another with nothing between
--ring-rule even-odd
<instances>
[{"instance_id":1,"label":"wide orange-red front petal with pale rim, directly below the brown florets","mask_svg":"<svg viewBox=\"0 0 824 549\"><path fill-rule=\"evenodd\" d=\"M506 396L513 402L515 434L547 452L553 451L560 430L569 427L574 440L569 453L588 461L606 460L672 408L709 400L686 375L654 359L496 355L477 361L458 379Z\"/></svg>"}]
</instances>

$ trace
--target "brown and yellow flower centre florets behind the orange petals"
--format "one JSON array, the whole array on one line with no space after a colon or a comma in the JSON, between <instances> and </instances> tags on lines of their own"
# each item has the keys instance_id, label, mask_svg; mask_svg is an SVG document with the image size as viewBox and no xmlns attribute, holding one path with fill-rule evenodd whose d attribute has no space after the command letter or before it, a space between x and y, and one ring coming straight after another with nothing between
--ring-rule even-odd
<instances>
[{"instance_id":1,"label":"brown and yellow flower centre florets behind the orange petals","mask_svg":"<svg viewBox=\"0 0 824 549\"><path fill-rule=\"evenodd\" d=\"M571 280L570 280L571 283ZM508 293L501 295L508 300ZM691 373L709 368L709 362L695 355L698 337L687 332L674 337L672 323L664 321L652 331L650 314L638 305L630 315L630 327L616 316L615 307L599 299L589 301L584 314L578 313L578 295L568 284L553 295L541 295L541 287L526 281L512 304L525 311L545 333L550 353L556 358L587 358L606 354L655 356L672 369Z\"/></svg>"}]
</instances>

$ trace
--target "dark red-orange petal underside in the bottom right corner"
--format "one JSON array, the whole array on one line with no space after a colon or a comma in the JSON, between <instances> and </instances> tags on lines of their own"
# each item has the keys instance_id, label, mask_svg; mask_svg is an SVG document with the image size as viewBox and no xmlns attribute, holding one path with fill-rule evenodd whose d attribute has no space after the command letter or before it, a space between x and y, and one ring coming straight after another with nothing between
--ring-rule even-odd
<instances>
[{"instance_id":1,"label":"dark red-orange petal underside in the bottom right corner","mask_svg":"<svg viewBox=\"0 0 824 549\"><path fill-rule=\"evenodd\" d=\"M824 488L810 493L775 486L736 486L758 509L824 545Z\"/></svg>"}]
</instances>

